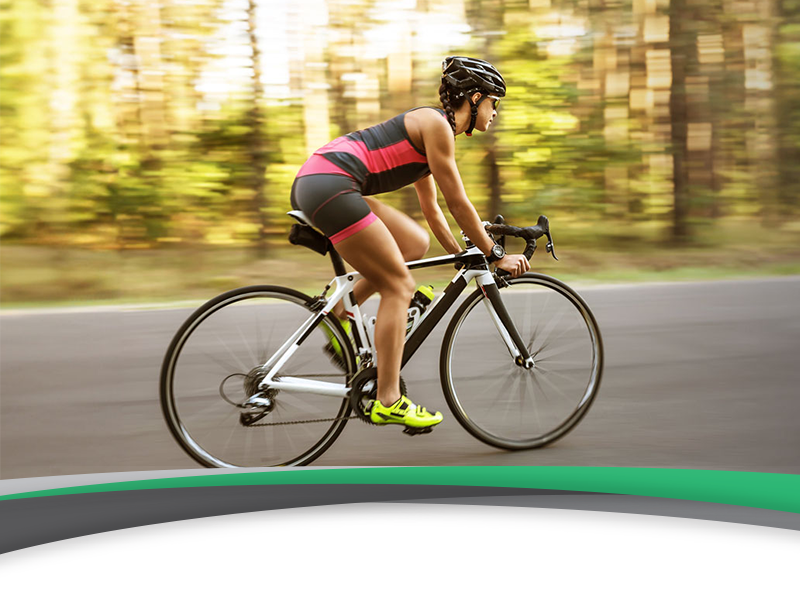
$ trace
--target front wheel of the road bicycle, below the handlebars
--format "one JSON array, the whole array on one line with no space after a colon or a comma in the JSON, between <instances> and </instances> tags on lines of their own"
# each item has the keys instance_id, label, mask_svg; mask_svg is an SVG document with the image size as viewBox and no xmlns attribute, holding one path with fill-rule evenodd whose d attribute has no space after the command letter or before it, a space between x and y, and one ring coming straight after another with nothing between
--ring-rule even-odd
<instances>
[{"instance_id":1,"label":"front wheel of the road bicycle, below the handlebars","mask_svg":"<svg viewBox=\"0 0 800 600\"><path fill-rule=\"evenodd\" d=\"M480 290L456 310L444 334L442 390L459 423L507 450L551 444L584 417L603 372L603 342L583 299L557 279L527 273L500 297L535 365L518 366Z\"/></svg>"}]
</instances>

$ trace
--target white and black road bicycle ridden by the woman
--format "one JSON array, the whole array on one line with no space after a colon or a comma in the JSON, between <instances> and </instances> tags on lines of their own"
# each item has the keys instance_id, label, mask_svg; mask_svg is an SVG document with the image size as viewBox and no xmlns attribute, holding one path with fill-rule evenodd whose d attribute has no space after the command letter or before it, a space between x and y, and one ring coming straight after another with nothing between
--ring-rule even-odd
<instances>
[{"instance_id":1,"label":"white and black road bicycle ridden by the woman","mask_svg":"<svg viewBox=\"0 0 800 600\"><path fill-rule=\"evenodd\" d=\"M362 313L352 294L361 275L347 272L302 212L289 214L298 221L290 241L328 254L334 279L317 296L274 285L221 294L188 318L164 357L164 417L178 444L202 465L307 465L348 421L370 422L377 388L375 318ZM525 240L528 259L545 236L547 252L558 260L544 215L532 227L507 225L501 216L484 225L503 246L507 237ZM439 372L447 405L470 434L497 448L551 444L580 422L600 388L597 321L564 283L539 273L510 278L493 271L464 239L463 252L406 263L412 270L452 264L457 274L425 312L409 320L402 365L474 282L442 341ZM349 334L331 313L340 300ZM336 360L326 351L331 339L341 349ZM401 389L406 393L402 378Z\"/></svg>"}]
</instances>

